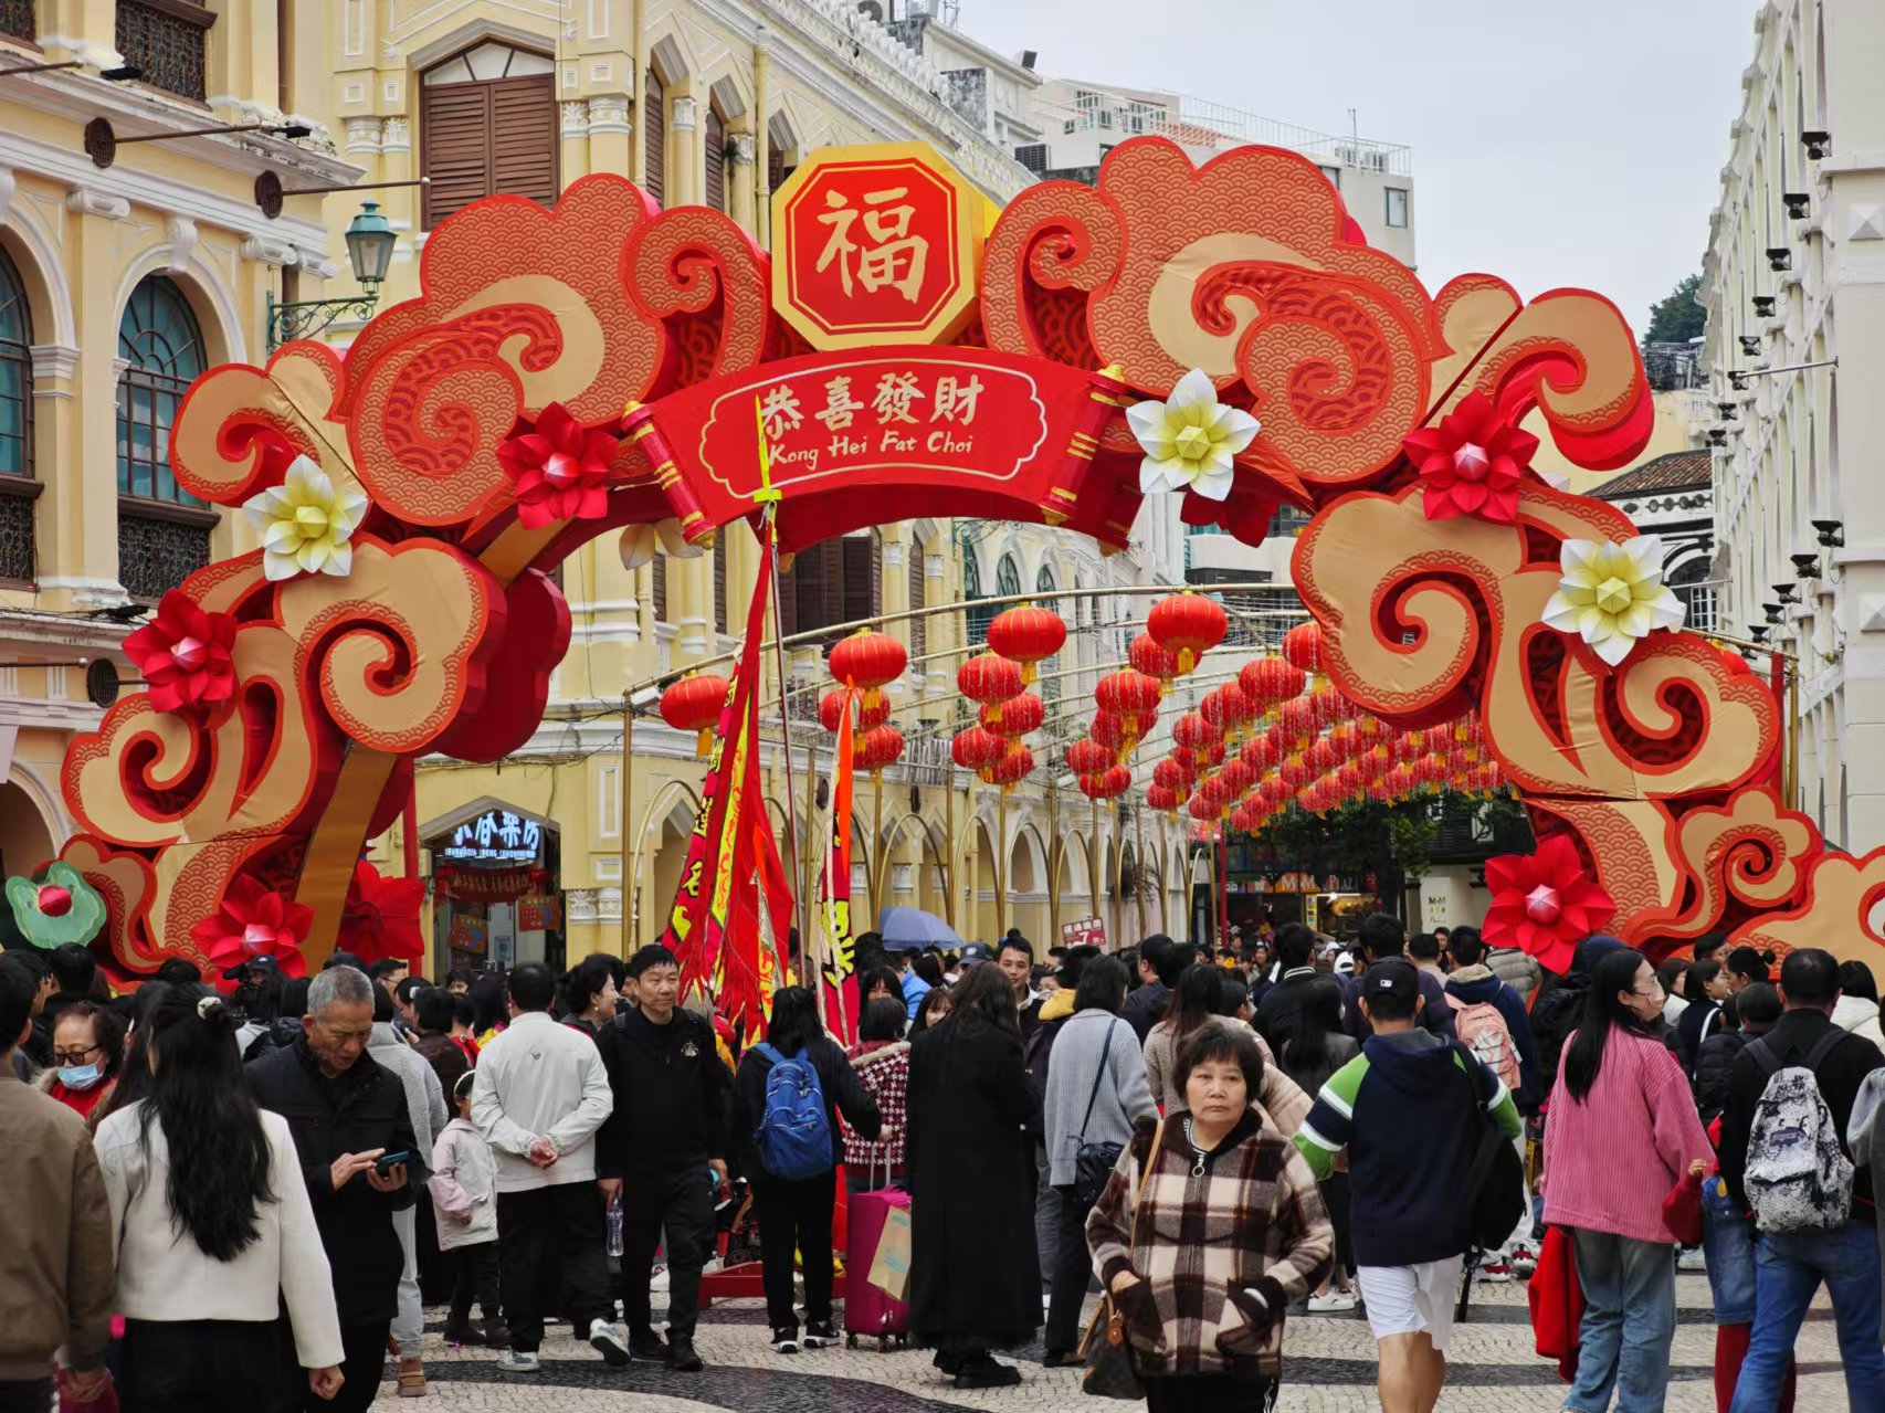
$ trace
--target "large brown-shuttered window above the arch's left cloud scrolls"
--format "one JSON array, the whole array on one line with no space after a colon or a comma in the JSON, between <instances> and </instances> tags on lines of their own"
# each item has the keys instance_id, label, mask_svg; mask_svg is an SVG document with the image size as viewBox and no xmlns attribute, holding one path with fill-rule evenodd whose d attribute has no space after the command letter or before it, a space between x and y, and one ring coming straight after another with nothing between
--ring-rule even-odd
<instances>
[{"instance_id":1,"label":"large brown-shuttered window above the arch's left cloud scrolls","mask_svg":"<svg viewBox=\"0 0 1885 1413\"><path fill-rule=\"evenodd\" d=\"M486 41L420 79L418 166L424 224L507 192L552 205L560 187L554 62Z\"/></svg>"}]
</instances>

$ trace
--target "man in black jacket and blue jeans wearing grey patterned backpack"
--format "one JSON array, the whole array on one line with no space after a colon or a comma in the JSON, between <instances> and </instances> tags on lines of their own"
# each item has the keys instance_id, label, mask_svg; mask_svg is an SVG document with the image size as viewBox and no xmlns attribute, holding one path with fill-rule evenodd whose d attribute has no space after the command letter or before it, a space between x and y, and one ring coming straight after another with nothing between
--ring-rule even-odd
<instances>
[{"instance_id":1,"label":"man in black jacket and blue jeans wearing grey patterned backpack","mask_svg":"<svg viewBox=\"0 0 1885 1413\"><path fill-rule=\"evenodd\" d=\"M1832 1008L1840 1000L1840 963L1830 951L1800 948L1787 953L1779 989L1787 1010L1772 1031L1734 1057L1729 1104L1721 1112L1721 1176L1742 1211L1747 1210L1747 1144L1768 1080L1785 1068L1810 1068L1819 1096L1832 1112L1840 1147L1851 1157L1847 1129L1853 1100L1866 1076L1885 1066L1877 1046L1832 1023ZM1877 1389L1885 1387L1885 1353L1879 1351L1879 1234L1872 1170L1860 1164L1853 1172L1851 1217L1842 1226L1761 1232L1755 1243L1755 1328L1747 1336L1734 1407L1779 1405L1793 1343L1821 1281L1832 1296L1851 1405L1876 1407Z\"/></svg>"}]
</instances>

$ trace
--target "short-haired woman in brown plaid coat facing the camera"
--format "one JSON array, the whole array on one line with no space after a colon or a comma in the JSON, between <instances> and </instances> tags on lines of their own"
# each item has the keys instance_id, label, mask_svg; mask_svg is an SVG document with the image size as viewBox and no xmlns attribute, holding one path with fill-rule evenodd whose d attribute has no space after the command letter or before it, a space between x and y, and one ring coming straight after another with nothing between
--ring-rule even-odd
<instances>
[{"instance_id":1,"label":"short-haired woman in brown plaid coat facing the camera","mask_svg":"<svg viewBox=\"0 0 1885 1413\"><path fill-rule=\"evenodd\" d=\"M1269 1413L1284 1311L1329 1270L1335 1228L1308 1162L1252 1110L1263 1057L1203 1027L1178 1053L1186 1108L1140 1130L1086 1223L1150 1413Z\"/></svg>"}]
</instances>

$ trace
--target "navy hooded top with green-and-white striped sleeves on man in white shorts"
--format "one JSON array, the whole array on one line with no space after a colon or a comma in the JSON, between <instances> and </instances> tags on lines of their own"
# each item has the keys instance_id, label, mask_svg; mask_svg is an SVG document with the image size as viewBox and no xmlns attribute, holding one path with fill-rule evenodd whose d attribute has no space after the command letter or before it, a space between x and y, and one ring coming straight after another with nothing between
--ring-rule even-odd
<instances>
[{"instance_id":1,"label":"navy hooded top with green-and-white striped sleeves on man in white shorts","mask_svg":"<svg viewBox=\"0 0 1885 1413\"><path fill-rule=\"evenodd\" d=\"M1295 1144L1318 1178L1348 1149L1359 1266L1419 1266L1472 1245L1467 1187L1491 1113L1512 1138L1519 1112L1499 1076L1427 1031L1372 1034L1321 1087Z\"/></svg>"}]
</instances>

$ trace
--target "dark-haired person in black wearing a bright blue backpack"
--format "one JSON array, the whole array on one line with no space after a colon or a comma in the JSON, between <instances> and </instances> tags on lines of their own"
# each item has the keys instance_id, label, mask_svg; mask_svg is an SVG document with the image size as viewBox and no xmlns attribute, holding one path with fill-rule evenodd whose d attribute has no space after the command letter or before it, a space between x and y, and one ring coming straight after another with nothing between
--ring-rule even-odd
<instances>
[{"instance_id":1,"label":"dark-haired person in black wearing a bright blue backpack","mask_svg":"<svg viewBox=\"0 0 1885 1413\"><path fill-rule=\"evenodd\" d=\"M826 1138L820 1153L775 1145L771 1134L758 1130L767 1121L767 1093L777 1064L809 1066L824 1104ZM805 1070L788 1078L805 1080ZM760 1215L760 1272L765 1285L765 1315L773 1326L773 1349L780 1355L799 1351L799 1317L792 1307L792 1253L799 1253L805 1270L805 1347L818 1349L837 1343L831 1323L831 1211L837 1206L837 1164L844 1155L837 1112L863 1138L877 1138L882 1121L877 1100L858 1081L856 1070L844 1059L818 1019L818 1000L803 985L782 987L773 997L773 1017L765 1027L765 1042L750 1046L741 1055L733 1076L731 1140L739 1155L739 1170L752 1183L752 1200ZM767 1161L797 1159L792 1170L775 1172ZM860 1277L861 1279L861 1277Z\"/></svg>"}]
</instances>

